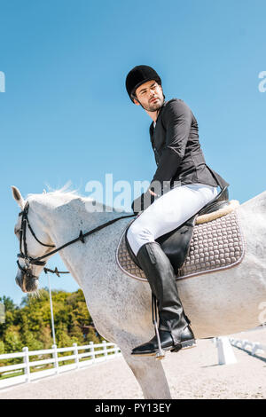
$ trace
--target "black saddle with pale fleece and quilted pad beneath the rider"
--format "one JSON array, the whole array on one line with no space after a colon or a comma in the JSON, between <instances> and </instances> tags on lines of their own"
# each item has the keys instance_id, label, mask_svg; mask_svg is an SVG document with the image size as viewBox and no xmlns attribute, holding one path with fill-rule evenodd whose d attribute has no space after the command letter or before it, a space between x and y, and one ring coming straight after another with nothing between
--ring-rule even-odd
<instances>
[{"instance_id":1,"label":"black saddle with pale fleece and quilted pad beneath the rider","mask_svg":"<svg viewBox=\"0 0 266 417\"><path fill-rule=\"evenodd\" d=\"M229 201L228 187L225 186L184 224L156 239L168 256L177 278L219 269L242 259L244 245L235 210L238 206L239 201ZM127 239L132 222L121 237L116 259L129 275L145 278Z\"/></svg>"}]
</instances>

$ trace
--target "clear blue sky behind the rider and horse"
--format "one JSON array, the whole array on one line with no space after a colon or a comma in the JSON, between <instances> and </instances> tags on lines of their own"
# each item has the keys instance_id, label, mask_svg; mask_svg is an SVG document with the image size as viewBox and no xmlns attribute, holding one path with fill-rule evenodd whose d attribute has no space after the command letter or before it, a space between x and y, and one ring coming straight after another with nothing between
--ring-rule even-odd
<instances>
[{"instance_id":1,"label":"clear blue sky behind the rider and horse","mask_svg":"<svg viewBox=\"0 0 266 417\"><path fill-rule=\"evenodd\" d=\"M70 180L86 195L106 173L152 179L151 119L124 87L131 67L154 67L166 98L192 108L207 164L230 183L231 199L265 190L265 12L263 0L0 1L0 296L23 296L11 185L27 195ZM59 256L55 265L64 269ZM77 289L68 276L51 282Z\"/></svg>"}]
</instances>

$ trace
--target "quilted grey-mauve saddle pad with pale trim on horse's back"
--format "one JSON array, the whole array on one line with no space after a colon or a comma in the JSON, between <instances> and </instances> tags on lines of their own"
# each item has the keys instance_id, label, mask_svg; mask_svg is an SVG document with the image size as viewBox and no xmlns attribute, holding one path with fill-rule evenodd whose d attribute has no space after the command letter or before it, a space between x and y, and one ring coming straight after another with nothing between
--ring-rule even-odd
<instances>
[{"instance_id":1,"label":"quilted grey-mauve saddle pad with pale trim on horse's back","mask_svg":"<svg viewBox=\"0 0 266 417\"><path fill-rule=\"evenodd\" d=\"M130 277L147 281L144 271L129 256L125 242L127 228L128 225L122 232L116 249L116 262ZM230 268L242 261L244 252L245 242L239 216L234 209L225 216L194 226L188 255L176 279L186 279L202 273Z\"/></svg>"}]
</instances>

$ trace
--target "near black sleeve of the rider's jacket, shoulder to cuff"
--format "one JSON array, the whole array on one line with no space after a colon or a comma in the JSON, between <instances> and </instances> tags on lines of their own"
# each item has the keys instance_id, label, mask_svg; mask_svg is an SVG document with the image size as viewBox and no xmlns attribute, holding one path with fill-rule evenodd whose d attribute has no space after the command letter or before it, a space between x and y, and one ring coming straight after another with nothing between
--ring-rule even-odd
<instances>
[{"instance_id":1,"label":"near black sleeve of the rider's jacket, shoulder to cuff","mask_svg":"<svg viewBox=\"0 0 266 417\"><path fill-rule=\"evenodd\" d=\"M163 114L166 129L166 145L160 156L160 163L153 181L170 181L184 158L185 147L192 126L192 111L183 100L170 101Z\"/></svg>"}]
</instances>

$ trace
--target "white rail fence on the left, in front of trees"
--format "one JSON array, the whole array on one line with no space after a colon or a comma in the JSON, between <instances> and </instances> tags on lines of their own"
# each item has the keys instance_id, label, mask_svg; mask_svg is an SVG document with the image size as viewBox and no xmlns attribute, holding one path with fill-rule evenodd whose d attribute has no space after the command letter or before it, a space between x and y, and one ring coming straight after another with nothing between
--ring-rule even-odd
<instances>
[{"instance_id":1,"label":"white rail fence on the left, in front of trees","mask_svg":"<svg viewBox=\"0 0 266 417\"><path fill-rule=\"evenodd\" d=\"M79 353L80 350L84 352ZM86 351L89 350L89 351ZM60 353L73 352L68 356L59 356ZM51 358L42 359L43 355L50 355ZM38 360L30 361L30 358L36 356ZM113 343L102 342L94 344L90 342L89 345L77 346L73 343L69 348L57 348L56 345L52 345L51 349L47 350L28 350L23 348L22 352L5 353L0 355L0 361L11 358L21 358L23 360L20 364L0 366L0 374L2 376L8 376L8 374L15 374L23 372L19 376L11 376L0 380L0 389L10 387L23 382L31 382L45 376L51 376L60 374L61 372L69 371L72 369L79 369L85 366L90 366L98 362L103 362L112 358L121 356L121 350ZM74 361L69 365L60 365L61 362ZM44 366L52 364L50 369L42 370ZM30 368L35 367L34 372L30 372Z\"/></svg>"}]
</instances>

